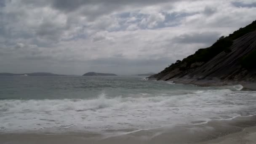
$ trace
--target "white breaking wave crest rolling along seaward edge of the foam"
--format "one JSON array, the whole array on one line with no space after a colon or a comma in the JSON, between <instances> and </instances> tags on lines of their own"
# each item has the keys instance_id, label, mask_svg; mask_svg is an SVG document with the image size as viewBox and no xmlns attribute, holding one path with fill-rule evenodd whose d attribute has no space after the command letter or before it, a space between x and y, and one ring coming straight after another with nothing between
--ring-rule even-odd
<instances>
[{"instance_id":1,"label":"white breaking wave crest rolling along seaward edge of the foam","mask_svg":"<svg viewBox=\"0 0 256 144\"><path fill-rule=\"evenodd\" d=\"M97 109L134 109L143 107L175 106L191 104L209 99L222 99L225 93L232 93L229 89L218 91L195 91L191 94L178 96L148 96L141 93L141 97L108 97L105 93L96 99L44 99L44 100L1 100L0 112L51 112L51 111L86 111Z\"/></svg>"}]
</instances>

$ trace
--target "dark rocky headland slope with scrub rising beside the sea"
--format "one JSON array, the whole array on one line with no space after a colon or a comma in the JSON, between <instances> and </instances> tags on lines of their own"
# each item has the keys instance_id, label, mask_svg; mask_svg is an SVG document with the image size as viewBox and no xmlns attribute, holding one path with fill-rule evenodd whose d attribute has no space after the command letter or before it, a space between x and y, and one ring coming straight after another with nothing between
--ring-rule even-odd
<instances>
[{"instance_id":1,"label":"dark rocky headland slope with scrub rising beside the sea","mask_svg":"<svg viewBox=\"0 0 256 144\"><path fill-rule=\"evenodd\" d=\"M201 86L240 84L244 89L256 90L255 63L256 21L253 21L148 78Z\"/></svg>"}]
</instances>

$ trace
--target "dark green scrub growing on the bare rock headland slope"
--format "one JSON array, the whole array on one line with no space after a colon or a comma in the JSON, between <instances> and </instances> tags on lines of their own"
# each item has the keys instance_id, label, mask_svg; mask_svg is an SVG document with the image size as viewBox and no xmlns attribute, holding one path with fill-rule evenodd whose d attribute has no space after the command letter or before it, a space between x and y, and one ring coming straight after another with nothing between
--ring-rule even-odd
<instances>
[{"instance_id":1,"label":"dark green scrub growing on the bare rock headland slope","mask_svg":"<svg viewBox=\"0 0 256 144\"><path fill-rule=\"evenodd\" d=\"M173 69L179 68L181 71L184 71L188 68L192 67L192 64L194 63L201 63L204 64L207 61L213 59L213 57L217 56L221 52L230 53L230 46L233 44L233 41L236 40L239 37L242 37L243 35L248 34L249 32L253 32L256 30L256 21L253 21L251 24L244 28L240 28L239 30L233 32L227 37L220 37L219 40L217 40L213 45L211 45L209 48L201 48L198 51L195 52L195 54L192 54L188 56L187 58L183 59L182 61L178 60L175 64L171 64L171 66L166 67L162 72L165 73L169 72ZM246 69L252 69L255 68L255 61L256 61L256 51L249 54L248 56L245 56L242 59L242 66ZM197 66L195 66L197 67Z\"/></svg>"}]
</instances>

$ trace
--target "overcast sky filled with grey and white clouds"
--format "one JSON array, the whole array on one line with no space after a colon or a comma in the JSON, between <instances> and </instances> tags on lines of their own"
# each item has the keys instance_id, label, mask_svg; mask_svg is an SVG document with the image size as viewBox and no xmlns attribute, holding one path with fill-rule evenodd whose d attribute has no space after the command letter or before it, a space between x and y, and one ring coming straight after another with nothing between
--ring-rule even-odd
<instances>
[{"instance_id":1,"label":"overcast sky filled with grey and white clouds","mask_svg":"<svg viewBox=\"0 0 256 144\"><path fill-rule=\"evenodd\" d=\"M256 20L255 0L0 0L0 72L160 72Z\"/></svg>"}]
</instances>

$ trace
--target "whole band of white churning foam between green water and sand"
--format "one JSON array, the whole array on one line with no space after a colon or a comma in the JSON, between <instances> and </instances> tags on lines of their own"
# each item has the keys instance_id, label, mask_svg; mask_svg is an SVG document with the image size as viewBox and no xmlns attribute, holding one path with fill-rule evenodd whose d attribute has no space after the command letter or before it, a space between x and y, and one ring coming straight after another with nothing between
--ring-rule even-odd
<instances>
[{"instance_id":1,"label":"whole band of white churning foam between green water and sand","mask_svg":"<svg viewBox=\"0 0 256 144\"><path fill-rule=\"evenodd\" d=\"M0 131L137 131L204 123L211 117L239 115L241 109L253 107L254 95L216 89L175 96L140 93L111 98L102 93L96 99L1 100Z\"/></svg>"}]
</instances>

